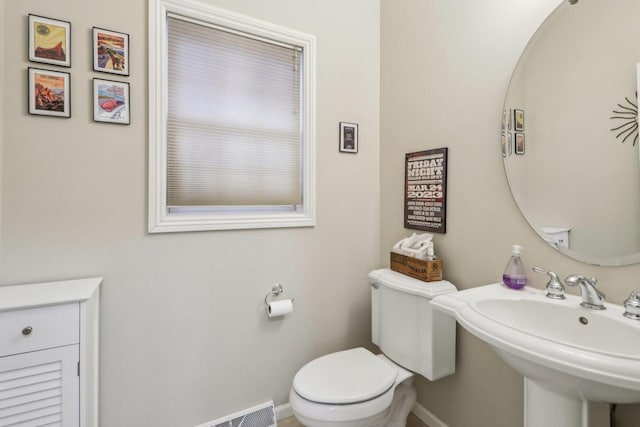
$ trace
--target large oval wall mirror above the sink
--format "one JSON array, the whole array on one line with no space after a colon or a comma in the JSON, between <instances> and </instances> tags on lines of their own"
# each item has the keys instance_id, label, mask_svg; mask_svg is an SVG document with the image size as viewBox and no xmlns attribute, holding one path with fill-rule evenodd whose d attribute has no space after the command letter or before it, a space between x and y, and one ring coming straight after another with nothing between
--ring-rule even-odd
<instances>
[{"instance_id":1,"label":"large oval wall mirror above the sink","mask_svg":"<svg viewBox=\"0 0 640 427\"><path fill-rule=\"evenodd\" d=\"M640 1L567 0L518 62L504 167L535 231L595 265L640 262Z\"/></svg>"}]
</instances>

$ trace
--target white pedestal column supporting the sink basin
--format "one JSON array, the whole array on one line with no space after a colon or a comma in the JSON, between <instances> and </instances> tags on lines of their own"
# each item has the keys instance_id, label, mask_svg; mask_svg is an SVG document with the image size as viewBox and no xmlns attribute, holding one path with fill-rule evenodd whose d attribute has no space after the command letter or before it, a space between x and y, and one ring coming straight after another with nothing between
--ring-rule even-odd
<instances>
[{"instance_id":1,"label":"white pedestal column supporting the sink basin","mask_svg":"<svg viewBox=\"0 0 640 427\"><path fill-rule=\"evenodd\" d=\"M524 427L588 427L587 402L524 379Z\"/></svg>"}]
</instances>

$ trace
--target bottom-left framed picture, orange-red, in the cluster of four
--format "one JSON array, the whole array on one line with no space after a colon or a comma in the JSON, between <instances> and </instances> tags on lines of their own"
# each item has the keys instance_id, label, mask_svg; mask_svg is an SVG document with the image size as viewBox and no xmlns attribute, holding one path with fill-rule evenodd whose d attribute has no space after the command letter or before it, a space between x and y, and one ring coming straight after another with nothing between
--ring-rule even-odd
<instances>
[{"instance_id":1,"label":"bottom-left framed picture, orange-red, in the cluster of four","mask_svg":"<svg viewBox=\"0 0 640 427\"><path fill-rule=\"evenodd\" d=\"M28 72L29 114L71 117L71 74L31 67Z\"/></svg>"}]
</instances>

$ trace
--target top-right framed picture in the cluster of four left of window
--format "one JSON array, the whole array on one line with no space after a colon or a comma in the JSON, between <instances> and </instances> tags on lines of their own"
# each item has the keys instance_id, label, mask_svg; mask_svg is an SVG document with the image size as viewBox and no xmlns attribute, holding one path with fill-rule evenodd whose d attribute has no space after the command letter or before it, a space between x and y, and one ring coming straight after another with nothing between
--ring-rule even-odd
<instances>
[{"instance_id":1,"label":"top-right framed picture in the cluster of four left of window","mask_svg":"<svg viewBox=\"0 0 640 427\"><path fill-rule=\"evenodd\" d=\"M93 27L93 70L129 75L129 34Z\"/></svg>"}]
</instances>

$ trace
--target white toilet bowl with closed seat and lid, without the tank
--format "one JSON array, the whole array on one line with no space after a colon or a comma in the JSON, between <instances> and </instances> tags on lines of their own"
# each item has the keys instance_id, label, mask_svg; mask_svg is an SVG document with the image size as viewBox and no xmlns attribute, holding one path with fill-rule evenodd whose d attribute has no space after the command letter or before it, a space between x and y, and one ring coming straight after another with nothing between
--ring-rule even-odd
<instances>
[{"instance_id":1,"label":"white toilet bowl with closed seat and lid, without the tank","mask_svg":"<svg viewBox=\"0 0 640 427\"><path fill-rule=\"evenodd\" d=\"M415 403L412 379L384 355L354 348L300 369L289 403L307 427L402 427Z\"/></svg>"}]
</instances>

